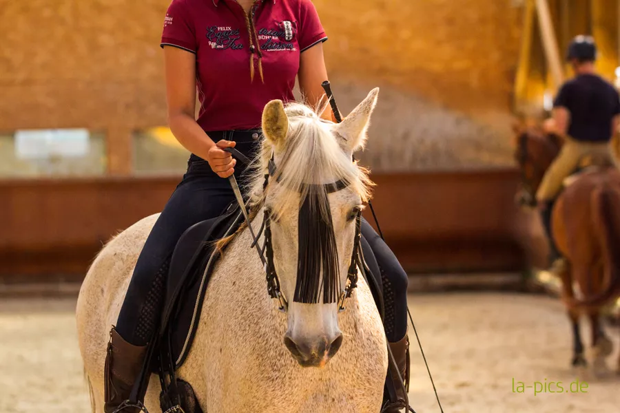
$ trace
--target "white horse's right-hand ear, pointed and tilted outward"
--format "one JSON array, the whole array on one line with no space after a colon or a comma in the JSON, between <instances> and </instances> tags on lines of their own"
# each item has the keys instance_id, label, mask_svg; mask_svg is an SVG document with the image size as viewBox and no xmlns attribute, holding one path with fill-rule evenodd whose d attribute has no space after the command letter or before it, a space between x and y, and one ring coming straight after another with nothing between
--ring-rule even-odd
<instances>
[{"instance_id":1,"label":"white horse's right-hand ear, pointed and tilted outward","mask_svg":"<svg viewBox=\"0 0 620 413\"><path fill-rule=\"evenodd\" d=\"M378 96L379 88L375 87L349 116L336 125L335 131L342 137L340 144L344 150L353 152L364 147L370 116L377 105Z\"/></svg>"}]
</instances>

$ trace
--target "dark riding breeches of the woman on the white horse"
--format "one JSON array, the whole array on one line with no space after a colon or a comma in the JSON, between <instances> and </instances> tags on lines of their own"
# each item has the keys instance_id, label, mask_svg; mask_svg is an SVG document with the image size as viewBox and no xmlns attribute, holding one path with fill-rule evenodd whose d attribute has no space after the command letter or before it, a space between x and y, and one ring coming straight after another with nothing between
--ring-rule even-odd
<instances>
[{"instance_id":1,"label":"dark riding breeches of the woman on the white horse","mask_svg":"<svg viewBox=\"0 0 620 413\"><path fill-rule=\"evenodd\" d=\"M234 140L238 149L251 158L256 148L255 131L210 132L214 141ZM238 162L237 165L240 165ZM240 187L247 182L241 168L235 176ZM216 218L235 200L228 180L218 177L209 164L192 155L187 172L169 198L149 237L143 246L132 275L125 301L116 323L125 341L134 346L145 346L156 332L163 311L166 277L174 247L190 226ZM384 285L385 328L389 341L395 342L406 332L406 273L395 255L362 220L362 237L371 246L380 268Z\"/></svg>"}]
</instances>

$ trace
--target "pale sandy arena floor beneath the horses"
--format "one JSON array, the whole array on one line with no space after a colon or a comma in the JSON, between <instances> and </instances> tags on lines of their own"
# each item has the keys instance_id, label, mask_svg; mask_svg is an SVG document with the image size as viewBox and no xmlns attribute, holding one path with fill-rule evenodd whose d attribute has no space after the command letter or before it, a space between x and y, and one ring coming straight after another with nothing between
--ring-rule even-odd
<instances>
[{"instance_id":1,"label":"pale sandy arena floor beneath the horses","mask_svg":"<svg viewBox=\"0 0 620 413\"><path fill-rule=\"evenodd\" d=\"M410 295L409 303L444 412L618 411L619 376L569 368L570 326L557 299L448 293ZM74 298L0 302L0 412L90 412L74 307ZM607 333L615 347L608 366L616 368L620 334ZM410 337L411 403L418 413L440 412L413 330ZM586 345L588 337L584 323ZM581 391L570 392L576 380ZM517 392L519 382L524 392ZM559 390L551 382L565 392L544 392L544 383Z\"/></svg>"}]
</instances>

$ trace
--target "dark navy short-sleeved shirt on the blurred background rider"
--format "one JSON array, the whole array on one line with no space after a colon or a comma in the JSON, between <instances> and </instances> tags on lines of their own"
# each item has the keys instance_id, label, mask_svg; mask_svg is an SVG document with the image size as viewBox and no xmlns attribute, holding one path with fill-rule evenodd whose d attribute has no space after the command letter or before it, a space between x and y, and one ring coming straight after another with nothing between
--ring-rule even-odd
<instances>
[{"instance_id":1,"label":"dark navy short-sleeved shirt on the blurred background rider","mask_svg":"<svg viewBox=\"0 0 620 413\"><path fill-rule=\"evenodd\" d=\"M616 89L595 74L579 74L559 89L554 107L570 112L568 135L581 142L609 142L612 119L620 114Z\"/></svg>"}]
</instances>

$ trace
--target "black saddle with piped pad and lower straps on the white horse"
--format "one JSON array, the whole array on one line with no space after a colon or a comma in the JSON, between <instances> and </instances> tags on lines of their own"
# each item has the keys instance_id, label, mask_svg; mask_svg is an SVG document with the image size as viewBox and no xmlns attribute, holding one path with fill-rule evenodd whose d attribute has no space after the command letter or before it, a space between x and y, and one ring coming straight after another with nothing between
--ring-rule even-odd
<instances>
[{"instance_id":1,"label":"black saddle with piped pad and lower straps on the white horse","mask_svg":"<svg viewBox=\"0 0 620 413\"><path fill-rule=\"evenodd\" d=\"M146 379L154 373L161 379L163 412L180 405L185 413L202 413L192 386L176 379L175 373L192 348L209 279L223 252L216 249L216 242L234 234L242 222L242 211L234 201L218 218L194 224L178 240L170 261L158 337L149 346L141 377L132 392L134 401L143 400ZM366 276L366 284L371 289L383 320L383 289L379 266L363 237L361 247L364 255L362 273Z\"/></svg>"}]
</instances>

